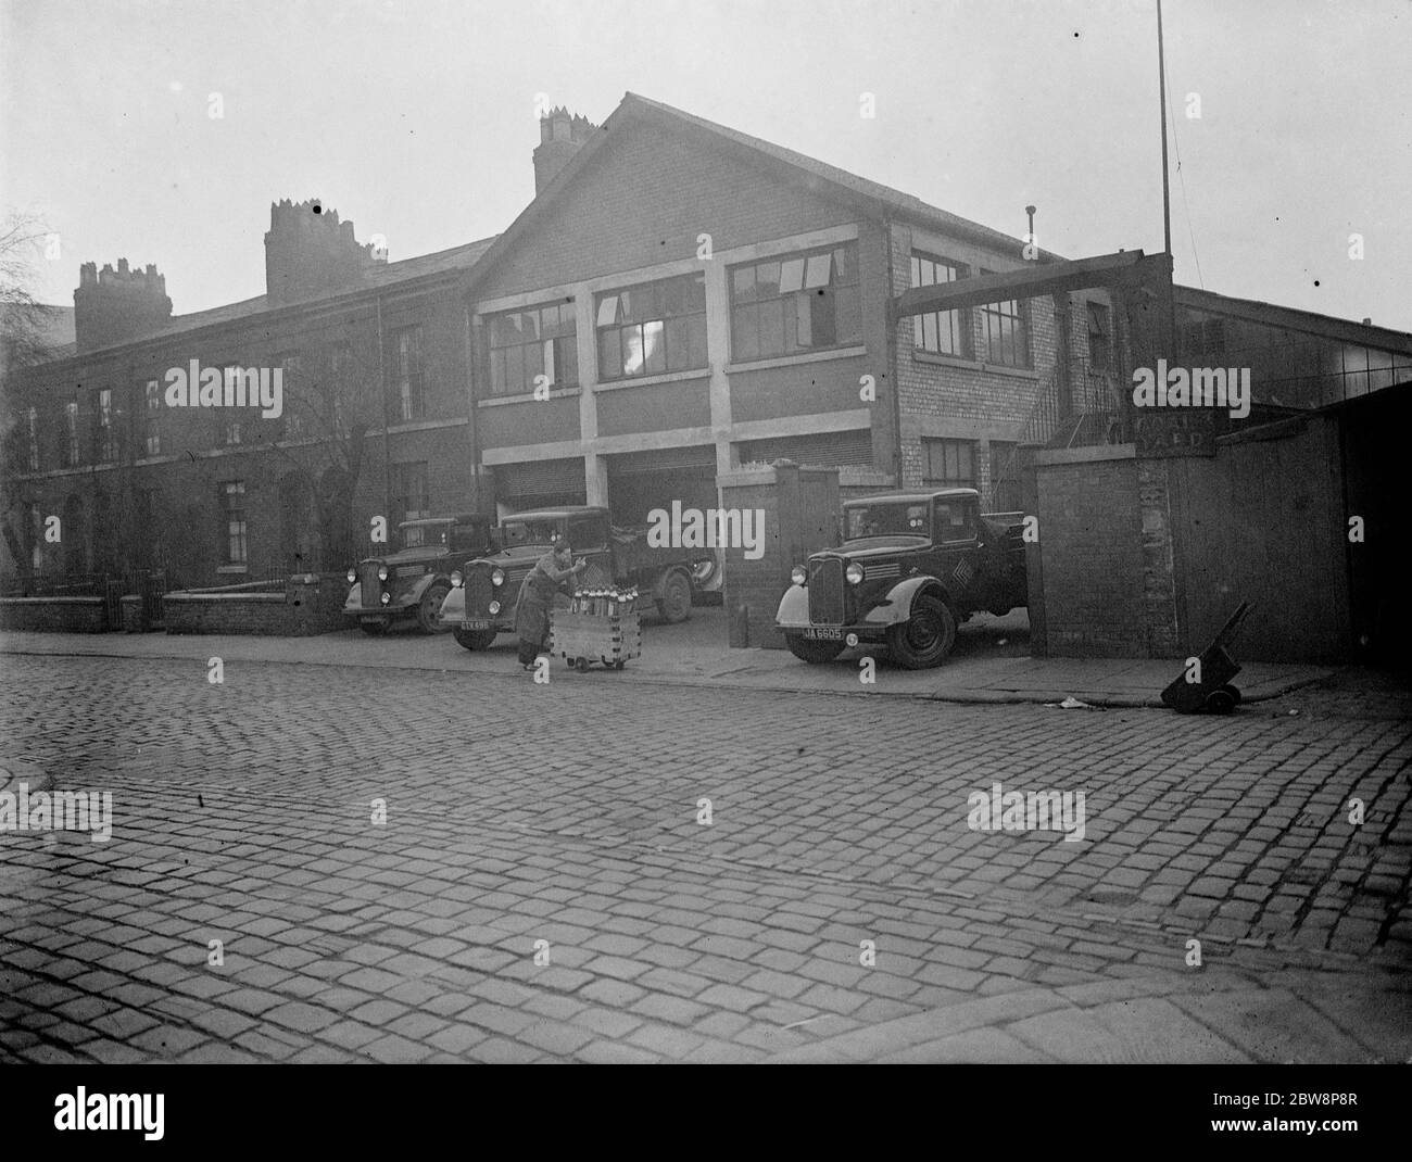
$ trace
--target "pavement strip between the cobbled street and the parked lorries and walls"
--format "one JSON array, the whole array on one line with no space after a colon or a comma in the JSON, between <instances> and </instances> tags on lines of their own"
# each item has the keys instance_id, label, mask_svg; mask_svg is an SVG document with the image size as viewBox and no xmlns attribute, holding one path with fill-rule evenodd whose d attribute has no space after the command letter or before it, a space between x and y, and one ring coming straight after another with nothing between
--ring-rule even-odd
<instances>
[{"instance_id":1,"label":"pavement strip between the cobbled street and the parked lorries and walls","mask_svg":"<svg viewBox=\"0 0 1412 1162\"><path fill-rule=\"evenodd\" d=\"M621 685L685 685L799 693L863 693L939 702L1062 702L1090 706L1162 706L1162 689L1182 673L1183 659L1031 658L1024 610L1003 618L977 614L960 630L955 655L942 666L908 671L878 649L847 649L826 665L806 665L786 649L731 649L720 607L698 609L689 623L665 625L644 616L642 657L610 681ZM312 638L167 634L0 634L0 651L121 658L220 657L305 665L395 666L514 676L514 638L489 651L467 651L446 634L402 630L369 638L356 630ZM873 657L874 682L864 686L861 661ZM594 668L590 673L602 676ZM1236 679L1245 702L1264 702L1327 679L1329 666L1245 664Z\"/></svg>"}]
</instances>

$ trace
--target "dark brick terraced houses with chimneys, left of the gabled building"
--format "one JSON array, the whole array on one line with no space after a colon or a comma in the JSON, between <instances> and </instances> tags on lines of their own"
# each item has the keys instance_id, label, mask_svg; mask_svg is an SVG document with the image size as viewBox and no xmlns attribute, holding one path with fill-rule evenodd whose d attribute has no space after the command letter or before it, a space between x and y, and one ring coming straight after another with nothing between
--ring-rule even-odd
<instances>
[{"instance_id":1,"label":"dark brick terraced houses with chimneys, left of the gabled building","mask_svg":"<svg viewBox=\"0 0 1412 1162\"><path fill-rule=\"evenodd\" d=\"M318 200L270 219L265 294L212 311L172 316L152 265L82 267L75 349L7 391L7 568L191 586L342 569L371 514L474 500L457 285L490 240L388 263ZM167 402L174 370L206 369L220 407ZM260 374L278 414L225 405L227 378Z\"/></svg>"}]
</instances>

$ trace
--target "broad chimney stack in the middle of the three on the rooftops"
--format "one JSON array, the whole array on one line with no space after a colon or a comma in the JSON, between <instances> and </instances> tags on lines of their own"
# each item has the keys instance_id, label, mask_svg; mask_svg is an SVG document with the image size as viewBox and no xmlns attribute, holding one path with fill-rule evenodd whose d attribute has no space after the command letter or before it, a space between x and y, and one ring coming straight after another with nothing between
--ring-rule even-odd
<instances>
[{"instance_id":1,"label":"broad chimney stack in the middle of the three on the rooftops","mask_svg":"<svg viewBox=\"0 0 1412 1162\"><path fill-rule=\"evenodd\" d=\"M315 298L357 282L376 261L373 246L360 244L352 222L319 198L270 205L265 234L265 298L271 305Z\"/></svg>"}]
</instances>

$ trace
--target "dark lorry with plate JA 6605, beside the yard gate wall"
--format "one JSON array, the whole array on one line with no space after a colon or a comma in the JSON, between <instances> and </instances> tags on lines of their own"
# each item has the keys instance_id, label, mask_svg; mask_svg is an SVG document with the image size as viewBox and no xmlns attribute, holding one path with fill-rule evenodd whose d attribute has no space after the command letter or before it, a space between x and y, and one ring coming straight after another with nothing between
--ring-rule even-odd
<instances>
[{"instance_id":1,"label":"dark lorry with plate JA 6605, beside the yard gate wall","mask_svg":"<svg viewBox=\"0 0 1412 1162\"><path fill-rule=\"evenodd\" d=\"M849 501L843 545L794 568L775 624L806 662L885 642L908 669L939 665L971 613L1027 604L1022 532L1022 514L981 513L974 489Z\"/></svg>"}]
</instances>

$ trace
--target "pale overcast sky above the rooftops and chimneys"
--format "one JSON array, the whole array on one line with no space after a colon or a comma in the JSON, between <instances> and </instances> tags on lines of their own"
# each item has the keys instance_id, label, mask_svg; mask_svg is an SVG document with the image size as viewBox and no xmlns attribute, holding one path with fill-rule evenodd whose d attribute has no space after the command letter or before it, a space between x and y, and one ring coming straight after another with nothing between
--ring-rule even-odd
<instances>
[{"instance_id":1,"label":"pale overcast sky above the rooftops and chimneys","mask_svg":"<svg viewBox=\"0 0 1412 1162\"><path fill-rule=\"evenodd\" d=\"M0 189L61 236L48 302L120 257L176 313L258 295L278 198L394 261L498 233L534 195L537 93L594 123L641 93L1017 237L1034 203L1069 257L1162 248L1155 0L0 10ZM1412 3L1168 0L1165 23L1178 281L1412 330Z\"/></svg>"}]
</instances>

